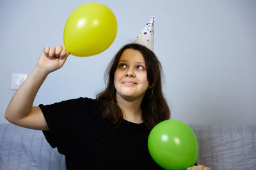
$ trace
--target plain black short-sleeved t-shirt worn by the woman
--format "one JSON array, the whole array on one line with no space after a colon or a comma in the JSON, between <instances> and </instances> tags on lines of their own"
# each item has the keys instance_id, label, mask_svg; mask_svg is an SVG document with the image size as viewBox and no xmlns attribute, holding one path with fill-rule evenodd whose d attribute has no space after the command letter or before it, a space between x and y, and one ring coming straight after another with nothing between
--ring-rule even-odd
<instances>
[{"instance_id":1,"label":"plain black short-sleeved t-shirt worn by the woman","mask_svg":"<svg viewBox=\"0 0 256 170\"><path fill-rule=\"evenodd\" d=\"M148 152L145 124L123 120L113 128L100 115L94 99L80 97L40 104L52 146L65 155L67 169L163 169Z\"/></svg>"}]
</instances>

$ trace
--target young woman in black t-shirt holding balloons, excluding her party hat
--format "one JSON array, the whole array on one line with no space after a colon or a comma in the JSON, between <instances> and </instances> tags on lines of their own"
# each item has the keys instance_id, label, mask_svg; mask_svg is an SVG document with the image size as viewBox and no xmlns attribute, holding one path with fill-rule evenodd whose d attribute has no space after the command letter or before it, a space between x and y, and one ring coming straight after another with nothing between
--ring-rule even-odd
<instances>
[{"instance_id":1,"label":"young woman in black t-shirt holding balloons, excluding her party hat","mask_svg":"<svg viewBox=\"0 0 256 170\"><path fill-rule=\"evenodd\" d=\"M106 71L106 89L96 99L80 97L33 106L47 75L60 69L67 57L61 45L44 48L35 69L10 101L6 119L42 130L49 144L65 155L67 169L162 169L147 148L151 129L170 118L161 87L161 64L154 52L134 43L123 46Z\"/></svg>"}]
</instances>

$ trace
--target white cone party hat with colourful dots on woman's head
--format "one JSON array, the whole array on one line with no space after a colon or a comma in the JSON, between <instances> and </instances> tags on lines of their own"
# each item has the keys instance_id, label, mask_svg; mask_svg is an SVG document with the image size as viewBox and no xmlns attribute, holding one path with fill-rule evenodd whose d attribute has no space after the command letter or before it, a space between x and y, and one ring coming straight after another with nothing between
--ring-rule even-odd
<instances>
[{"instance_id":1,"label":"white cone party hat with colourful dots on woman's head","mask_svg":"<svg viewBox=\"0 0 256 170\"><path fill-rule=\"evenodd\" d=\"M141 30L139 36L134 39L133 43L145 45L154 52L154 17L149 20Z\"/></svg>"}]
</instances>

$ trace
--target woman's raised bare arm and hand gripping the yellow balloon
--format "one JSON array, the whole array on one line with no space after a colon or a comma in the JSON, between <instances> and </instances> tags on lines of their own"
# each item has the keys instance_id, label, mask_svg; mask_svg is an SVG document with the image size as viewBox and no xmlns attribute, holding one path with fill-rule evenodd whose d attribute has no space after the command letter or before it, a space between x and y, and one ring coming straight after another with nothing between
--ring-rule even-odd
<instances>
[{"instance_id":1,"label":"woman's raised bare arm and hand gripping the yellow balloon","mask_svg":"<svg viewBox=\"0 0 256 170\"><path fill-rule=\"evenodd\" d=\"M49 130L39 107L33 106L35 96L49 73L63 66L69 53L61 45L45 46L40 58L8 104L4 117L12 124L29 129Z\"/></svg>"}]
</instances>

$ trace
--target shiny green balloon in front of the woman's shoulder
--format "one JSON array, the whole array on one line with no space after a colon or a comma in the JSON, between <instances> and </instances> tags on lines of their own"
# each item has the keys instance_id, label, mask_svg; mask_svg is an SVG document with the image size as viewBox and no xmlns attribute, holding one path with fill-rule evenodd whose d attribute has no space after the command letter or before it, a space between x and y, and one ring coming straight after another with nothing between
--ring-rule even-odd
<instances>
[{"instance_id":1,"label":"shiny green balloon in front of the woman's shoulder","mask_svg":"<svg viewBox=\"0 0 256 170\"><path fill-rule=\"evenodd\" d=\"M164 120L148 136L148 151L164 169L187 169L194 166L198 142L193 130L180 120Z\"/></svg>"}]
</instances>

